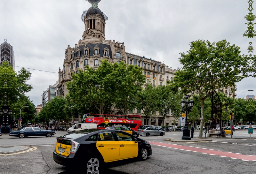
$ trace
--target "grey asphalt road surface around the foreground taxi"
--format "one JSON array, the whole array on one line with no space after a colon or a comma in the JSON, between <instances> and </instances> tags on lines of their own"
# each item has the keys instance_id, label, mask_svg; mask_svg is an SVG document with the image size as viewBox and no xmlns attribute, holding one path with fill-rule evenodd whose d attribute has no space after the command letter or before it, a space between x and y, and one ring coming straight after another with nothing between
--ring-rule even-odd
<instances>
[{"instance_id":1,"label":"grey asphalt road surface around the foreground taxi","mask_svg":"<svg viewBox=\"0 0 256 174\"><path fill-rule=\"evenodd\" d=\"M37 149L27 153L17 155L0 156L0 173L85 173L83 168L72 168L71 171L52 159L52 152L55 148L56 137L66 132L56 132L51 138L46 137L26 137L24 139L3 135L0 137L0 146L34 146ZM195 132L194 137L199 132ZM246 134L247 133L247 134ZM254 161L243 161L230 157L221 157L212 153L222 152L232 154L242 154L248 157L256 155L256 136L255 139L228 139L211 138L213 141L194 142L194 143L172 143L166 141L169 138L179 138L181 132L166 132L160 136L142 136L140 138L150 141L153 154L146 161L129 159L119 162L108 163L105 173L138 173L138 174L166 174L166 173L254 173L256 170ZM235 131L233 137L248 137L248 130ZM250 136L250 135L249 135ZM230 136L229 136L230 137ZM160 144L160 145L153 145ZM173 146L173 147L171 147ZM174 148L179 146L180 148ZM183 149L182 149L183 148ZM191 149L185 150L185 149ZM205 150L207 153L196 152ZM84 166L83 166L84 167Z\"/></svg>"}]
</instances>

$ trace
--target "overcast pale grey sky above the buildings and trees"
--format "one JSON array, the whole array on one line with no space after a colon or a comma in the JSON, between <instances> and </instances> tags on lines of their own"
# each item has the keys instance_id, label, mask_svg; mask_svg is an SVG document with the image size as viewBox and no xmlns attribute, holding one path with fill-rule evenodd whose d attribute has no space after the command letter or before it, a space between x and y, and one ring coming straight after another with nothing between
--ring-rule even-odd
<instances>
[{"instance_id":1,"label":"overcast pale grey sky above the buildings and trees","mask_svg":"<svg viewBox=\"0 0 256 174\"><path fill-rule=\"evenodd\" d=\"M181 67L180 52L198 39L211 42L226 39L247 54L244 16L246 0L101 0L99 8L107 16L106 40L124 42L126 52L145 56L175 69ZM1 0L0 42L13 46L15 65L58 72L68 45L82 39L83 11L91 7L84 0ZM253 4L256 9L256 3ZM256 11L254 12L256 14ZM20 68L16 67L16 71ZM41 104L43 91L58 80L58 74L29 70L27 94ZM237 83L237 97L255 89L254 78ZM240 91L240 92L239 92ZM244 92L244 93L242 93ZM255 95L255 93L253 94Z\"/></svg>"}]
</instances>

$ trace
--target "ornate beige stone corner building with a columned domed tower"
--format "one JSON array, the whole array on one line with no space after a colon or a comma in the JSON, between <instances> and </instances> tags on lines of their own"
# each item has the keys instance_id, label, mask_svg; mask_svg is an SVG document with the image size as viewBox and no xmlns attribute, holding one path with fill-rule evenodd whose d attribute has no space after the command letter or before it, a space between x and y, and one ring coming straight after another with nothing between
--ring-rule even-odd
<instances>
[{"instance_id":1,"label":"ornate beige stone corner building with a columned domed tower","mask_svg":"<svg viewBox=\"0 0 256 174\"><path fill-rule=\"evenodd\" d=\"M79 69L84 71L86 65L96 70L103 59L111 63L124 61L126 64L137 65L143 69L147 78L146 83L151 82L154 86L165 85L165 64L125 52L124 42L106 40L105 26L108 17L98 8L100 0L87 1L92 4L92 7L82 14L84 22L82 39L74 48L68 45L63 68L59 69L59 96L65 97L68 94L66 83L71 81L71 73L78 73ZM113 113L118 114L115 111ZM141 115L141 111L136 110L135 114ZM74 119L80 122L81 118L75 114ZM144 124L151 124L150 120L144 121Z\"/></svg>"}]
</instances>

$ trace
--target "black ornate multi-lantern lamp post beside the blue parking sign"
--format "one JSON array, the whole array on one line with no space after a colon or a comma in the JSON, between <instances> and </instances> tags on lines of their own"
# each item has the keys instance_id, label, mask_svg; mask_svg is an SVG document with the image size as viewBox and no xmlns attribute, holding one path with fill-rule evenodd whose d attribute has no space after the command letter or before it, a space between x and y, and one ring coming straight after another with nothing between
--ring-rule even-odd
<instances>
[{"instance_id":1,"label":"black ornate multi-lantern lamp post beside the blue parking sign","mask_svg":"<svg viewBox=\"0 0 256 174\"><path fill-rule=\"evenodd\" d=\"M181 109L182 109L182 111L186 112L186 119L185 119L185 126L183 129L182 139L183 140L191 140L190 130L188 129L188 112L191 111L191 109L194 105L194 101L193 100L188 101L188 96L185 96L184 99L185 100L181 101Z\"/></svg>"}]
</instances>

